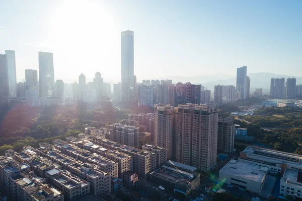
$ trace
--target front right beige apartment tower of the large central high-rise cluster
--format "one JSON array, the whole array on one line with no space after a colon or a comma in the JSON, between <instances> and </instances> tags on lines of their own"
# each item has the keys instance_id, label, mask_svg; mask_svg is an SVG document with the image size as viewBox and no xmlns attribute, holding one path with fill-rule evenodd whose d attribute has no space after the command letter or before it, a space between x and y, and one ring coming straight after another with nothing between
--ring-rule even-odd
<instances>
[{"instance_id":1,"label":"front right beige apartment tower of the large central high-rise cluster","mask_svg":"<svg viewBox=\"0 0 302 201\"><path fill-rule=\"evenodd\" d=\"M214 106L195 106L192 131L192 166L210 170L216 165L218 113Z\"/></svg>"}]
</instances>

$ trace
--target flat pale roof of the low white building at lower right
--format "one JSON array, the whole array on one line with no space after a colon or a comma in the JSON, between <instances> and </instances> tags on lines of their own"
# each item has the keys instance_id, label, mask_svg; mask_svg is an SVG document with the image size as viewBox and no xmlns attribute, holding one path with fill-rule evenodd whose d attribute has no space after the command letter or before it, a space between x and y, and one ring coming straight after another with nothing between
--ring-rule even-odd
<instances>
[{"instance_id":1,"label":"flat pale roof of the low white building at lower right","mask_svg":"<svg viewBox=\"0 0 302 201\"><path fill-rule=\"evenodd\" d=\"M220 171L226 174L231 174L247 180L262 182L267 172L267 168L257 165L251 165L241 161L231 160Z\"/></svg>"}]
</instances>

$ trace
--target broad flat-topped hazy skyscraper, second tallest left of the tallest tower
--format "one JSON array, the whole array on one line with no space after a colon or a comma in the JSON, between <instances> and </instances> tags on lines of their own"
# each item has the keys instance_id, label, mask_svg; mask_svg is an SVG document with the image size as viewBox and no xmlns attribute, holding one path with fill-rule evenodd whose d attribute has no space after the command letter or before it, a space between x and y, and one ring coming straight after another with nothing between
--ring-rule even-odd
<instances>
[{"instance_id":1,"label":"broad flat-topped hazy skyscraper, second tallest left of the tallest tower","mask_svg":"<svg viewBox=\"0 0 302 201\"><path fill-rule=\"evenodd\" d=\"M50 52L39 52L39 85L40 97L55 95L53 55Z\"/></svg>"}]
</instances>

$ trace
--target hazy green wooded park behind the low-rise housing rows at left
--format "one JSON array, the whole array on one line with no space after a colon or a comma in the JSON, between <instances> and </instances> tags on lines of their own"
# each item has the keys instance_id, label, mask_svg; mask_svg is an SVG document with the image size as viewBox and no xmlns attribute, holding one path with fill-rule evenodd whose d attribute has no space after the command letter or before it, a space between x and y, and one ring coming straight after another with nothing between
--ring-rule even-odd
<instances>
[{"instance_id":1,"label":"hazy green wooded park behind the low-rise housing rows at left","mask_svg":"<svg viewBox=\"0 0 302 201\"><path fill-rule=\"evenodd\" d=\"M64 139L84 132L86 126L105 127L128 117L129 109L112 103L64 105L40 108L13 107L0 110L0 154L21 151L23 146L38 147L41 142Z\"/></svg>"}]
</instances>

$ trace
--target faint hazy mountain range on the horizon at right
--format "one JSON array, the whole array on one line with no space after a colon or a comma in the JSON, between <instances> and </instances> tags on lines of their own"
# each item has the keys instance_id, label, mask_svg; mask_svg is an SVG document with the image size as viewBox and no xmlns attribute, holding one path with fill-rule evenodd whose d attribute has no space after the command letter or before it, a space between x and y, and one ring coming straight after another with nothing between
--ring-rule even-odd
<instances>
[{"instance_id":1,"label":"faint hazy mountain range on the horizon at right","mask_svg":"<svg viewBox=\"0 0 302 201\"><path fill-rule=\"evenodd\" d=\"M251 89L262 88L270 89L270 79L271 78L296 78L296 84L302 84L302 77L278 75L274 73L250 73L248 76L251 79ZM173 83L177 82L191 82L194 84L202 84L209 90L214 90L215 85L234 85L236 86L236 77L232 77L224 74L214 74L210 76L194 76L194 77L169 77L166 79L171 79ZM286 81L285 81L286 82Z\"/></svg>"}]
</instances>

